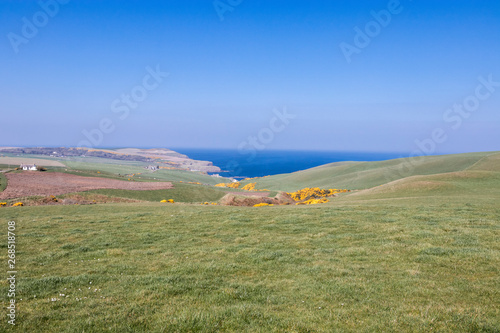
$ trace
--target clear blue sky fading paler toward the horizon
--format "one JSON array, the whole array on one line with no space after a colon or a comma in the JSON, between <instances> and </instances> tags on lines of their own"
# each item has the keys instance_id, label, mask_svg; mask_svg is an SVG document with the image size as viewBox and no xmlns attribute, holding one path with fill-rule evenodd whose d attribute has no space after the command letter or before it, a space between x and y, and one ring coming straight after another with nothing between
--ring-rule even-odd
<instances>
[{"instance_id":1,"label":"clear blue sky fading paler toward the horizon","mask_svg":"<svg viewBox=\"0 0 500 333\"><path fill-rule=\"evenodd\" d=\"M498 0L61 2L0 2L0 145L500 150Z\"/></svg>"}]
</instances>

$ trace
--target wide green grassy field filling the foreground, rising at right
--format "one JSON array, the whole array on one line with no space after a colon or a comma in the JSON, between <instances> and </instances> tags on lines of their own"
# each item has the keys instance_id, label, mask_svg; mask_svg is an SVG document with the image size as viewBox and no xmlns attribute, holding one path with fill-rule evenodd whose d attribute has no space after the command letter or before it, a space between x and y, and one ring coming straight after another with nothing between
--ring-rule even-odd
<instances>
[{"instance_id":1,"label":"wide green grassy field filling the foreground, rising at right","mask_svg":"<svg viewBox=\"0 0 500 333\"><path fill-rule=\"evenodd\" d=\"M500 156L469 157L317 206L0 208L17 329L500 332ZM223 192L179 185L179 202Z\"/></svg>"}]
</instances>

